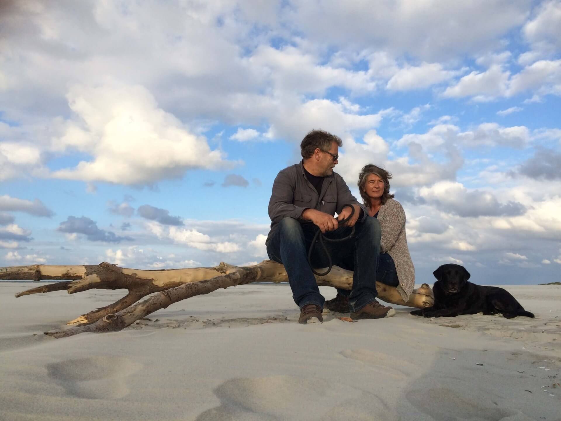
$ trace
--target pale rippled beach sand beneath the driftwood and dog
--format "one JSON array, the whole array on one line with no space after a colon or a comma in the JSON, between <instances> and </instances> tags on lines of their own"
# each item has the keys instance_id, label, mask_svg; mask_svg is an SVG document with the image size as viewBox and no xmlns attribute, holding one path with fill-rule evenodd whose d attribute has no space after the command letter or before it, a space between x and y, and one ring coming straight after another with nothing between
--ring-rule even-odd
<instances>
[{"instance_id":1,"label":"pale rippled beach sand beneath the driftwood and dog","mask_svg":"<svg viewBox=\"0 0 561 421\"><path fill-rule=\"evenodd\" d=\"M288 286L247 285L58 340L123 291L14 298L33 286L0 283L2 421L561 420L560 286L507 287L535 319L302 326Z\"/></svg>"}]
</instances>

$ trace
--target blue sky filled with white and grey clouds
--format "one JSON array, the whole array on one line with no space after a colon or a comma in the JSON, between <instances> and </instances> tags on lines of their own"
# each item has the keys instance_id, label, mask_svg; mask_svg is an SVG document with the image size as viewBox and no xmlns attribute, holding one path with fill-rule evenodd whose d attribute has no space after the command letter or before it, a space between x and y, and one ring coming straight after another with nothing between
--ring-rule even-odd
<instances>
[{"instance_id":1,"label":"blue sky filled with white and grey clouds","mask_svg":"<svg viewBox=\"0 0 561 421\"><path fill-rule=\"evenodd\" d=\"M416 281L560 281L561 1L0 1L0 266L266 259L275 176L393 173Z\"/></svg>"}]
</instances>

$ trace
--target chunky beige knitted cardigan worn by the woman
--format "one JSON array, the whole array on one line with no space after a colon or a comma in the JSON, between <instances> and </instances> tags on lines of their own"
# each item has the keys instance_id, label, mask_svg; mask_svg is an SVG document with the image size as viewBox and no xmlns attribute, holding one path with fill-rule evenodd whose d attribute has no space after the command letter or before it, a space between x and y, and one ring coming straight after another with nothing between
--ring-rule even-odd
<instances>
[{"instance_id":1,"label":"chunky beige knitted cardigan worn by the woman","mask_svg":"<svg viewBox=\"0 0 561 421\"><path fill-rule=\"evenodd\" d=\"M397 290L403 301L407 302L415 285L415 267L407 248L405 212L401 203L395 199L388 199L380 207L378 221L382 231L380 253L388 253L396 264L399 280Z\"/></svg>"}]
</instances>

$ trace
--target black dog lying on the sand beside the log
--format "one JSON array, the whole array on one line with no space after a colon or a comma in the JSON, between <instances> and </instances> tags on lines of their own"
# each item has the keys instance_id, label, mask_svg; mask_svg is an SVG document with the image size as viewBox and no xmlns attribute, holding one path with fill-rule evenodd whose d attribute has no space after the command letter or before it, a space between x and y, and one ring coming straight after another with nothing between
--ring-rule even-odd
<instances>
[{"instance_id":1,"label":"black dog lying on the sand beside the log","mask_svg":"<svg viewBox=\"0 0 561 421\"><path fill-rule=\"evenodd\" d=\"M493 315L501 313L512 319L523 315L534 317L527 312L506 290L496 286L481 286L468 282L470 273L459 264L443 264L433 272L437 281L434 283L434 305L414 310L413 315L425 317L456 317L460 314Z\"/></svg>"}]
</instances>

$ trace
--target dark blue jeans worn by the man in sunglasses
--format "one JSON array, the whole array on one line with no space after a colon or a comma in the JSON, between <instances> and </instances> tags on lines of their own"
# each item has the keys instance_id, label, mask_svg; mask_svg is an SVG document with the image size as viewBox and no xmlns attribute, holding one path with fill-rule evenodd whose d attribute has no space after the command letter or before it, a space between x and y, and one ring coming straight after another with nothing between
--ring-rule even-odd
<instances>
[{"instance_id":1,"label":"dark blue jeans worn by the man in sunglasses","mask_svg":"<svg viewBox=\"0 0 561 421\"><path fill-rule=\"evenodd\" d=\"M380 223L376 218L365 218L357 222L355 235L347 241L325 241L334 265L353 271L352 290L349 294L351 312L357 312L375 300L376 273L380 255ZM323 308L325 299L320 294L314 273L307 260L308 250L315 232L313 223L300 223L294 218L283 218L277 231L267 244L269 259L282 263L288 274L292 298L302 308L306 304L317 304ZM343 238L351 228L341 227L328 232L328 238ZM311 256L314 268L328 267L325 251L318 243Z\"/></svg>"}]
</instances>

